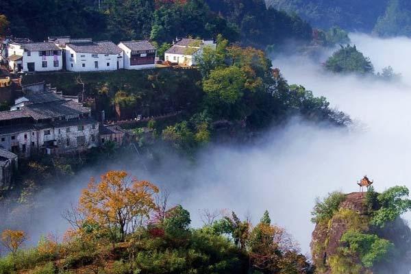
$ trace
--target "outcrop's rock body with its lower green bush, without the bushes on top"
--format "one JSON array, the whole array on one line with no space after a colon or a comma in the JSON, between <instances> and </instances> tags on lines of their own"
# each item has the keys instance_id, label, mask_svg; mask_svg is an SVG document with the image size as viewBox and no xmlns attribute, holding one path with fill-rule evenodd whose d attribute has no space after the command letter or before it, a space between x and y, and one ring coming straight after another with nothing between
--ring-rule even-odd
<instances>
[{"instance_id":1,"label":"outcrop's rock body with its lower green bush, without the bushes on top","mask_svg":"<svg viewBox=\"0 0 411 274\"><path fill-rule=\"evenodd\" d=\"M316 222L310 247L317 273L410 273L410 228L398 216L384 227L373 225L381 207L366 192L353 192L330 218Z\"/></svg>"}]
</instances>

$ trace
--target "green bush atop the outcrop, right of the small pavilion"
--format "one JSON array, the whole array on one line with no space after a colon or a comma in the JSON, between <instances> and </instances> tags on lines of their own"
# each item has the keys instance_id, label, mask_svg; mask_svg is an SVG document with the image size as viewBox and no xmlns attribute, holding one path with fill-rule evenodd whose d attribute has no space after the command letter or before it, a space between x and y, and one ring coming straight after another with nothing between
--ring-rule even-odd
<instances>
[{"instance_id":1,"label":"green bush atop the outcrop, right of the small pavilion","mask_svg":"<svg viewBox=\"0 0 411 274\"><path fill-rule=\"evenodd\" d=\"M384 227L387 222L395 221L401 214L411 210L410 191L406 186L394 186L378 195L379 209L373 212L371 224Z\"/></svg>"}]
</instances>

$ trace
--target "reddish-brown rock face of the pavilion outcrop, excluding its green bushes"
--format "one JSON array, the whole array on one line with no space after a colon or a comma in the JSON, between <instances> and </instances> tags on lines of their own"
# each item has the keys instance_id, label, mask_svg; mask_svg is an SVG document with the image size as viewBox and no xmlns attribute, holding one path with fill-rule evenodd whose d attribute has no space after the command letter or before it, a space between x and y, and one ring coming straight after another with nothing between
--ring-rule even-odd
<instances>
[{"instance_id":1,"label":"reddish-brown rock face of the pavilion outcrop, excluding its green bushes","mask_svg":"<svg viewBox=\"0 0 411 274\"><path fill-rule=\"evenodd\" d=\"M408 274L411 271L411 230L400 218L386 223L384 228L369 224L370 211L366 205L366 192L346 195L338 211L331 219L316 224L312 232L312 259L320 274L393 273ZM366 267L359 255L341 241L349 230L377 235L393 243L389 258ZM345 248L345 251L343 251ZM347 253L348 250L348 253ZM388 257L388 256L386 256Z\"/></svg>"}]
</instances>

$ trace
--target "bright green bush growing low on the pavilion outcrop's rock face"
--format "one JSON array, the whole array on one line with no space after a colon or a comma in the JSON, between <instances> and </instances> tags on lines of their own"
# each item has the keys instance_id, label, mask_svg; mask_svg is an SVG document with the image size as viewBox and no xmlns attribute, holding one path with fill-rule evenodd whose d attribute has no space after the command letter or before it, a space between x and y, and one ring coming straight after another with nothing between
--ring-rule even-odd
<instances>
[{"instance_id":1,"label":"bright green bush growing low on the pavilion outcrop's rock face","mask_svg":"<svg viewBox=\"0 0 411 274\"><path fill-rule=\"evenodd\" d=\"M367 268L371 268L375 262L387 260L388 253L394 248L392 242L377 235L363 234L352 229L343 234L341 242L348 245L343 247L344 252L358 254L362 264Z\"/></svg>"}]
</instances>

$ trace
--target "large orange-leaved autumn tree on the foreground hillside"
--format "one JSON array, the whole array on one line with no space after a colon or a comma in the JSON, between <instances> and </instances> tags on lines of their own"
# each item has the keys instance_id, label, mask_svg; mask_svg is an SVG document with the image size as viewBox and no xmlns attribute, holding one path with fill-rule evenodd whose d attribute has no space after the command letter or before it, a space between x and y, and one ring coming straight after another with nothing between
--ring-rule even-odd
<instances>
[{"instance_id":1,"label":"large orange-leaved autumn tree on the foreground hillside","mask_svg":"<svg viewBox=\"0 0 411 274\"><path fill-rule=\"evenodd\" d=\"M129 231L144 225L155 208L153 194L158 187L147 181L131 178L125 171L109 171L100 182L91 179L79 198L79 212L86 221L95 222L114 238L117 231L125 240Z\"/></svg>"}]
</instances>

